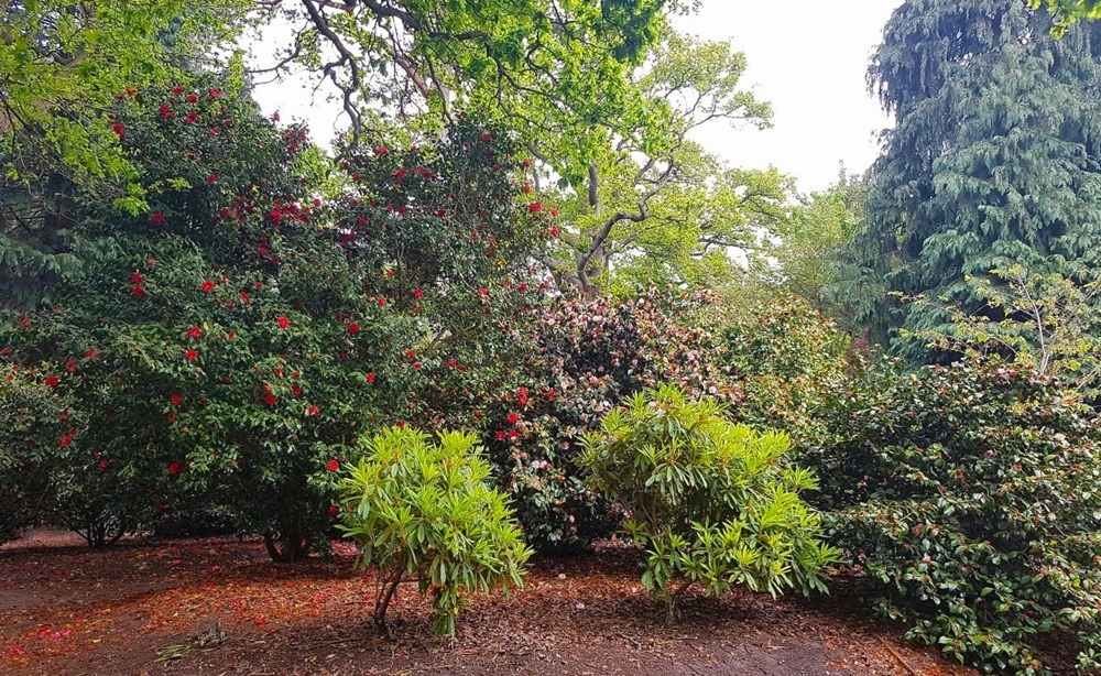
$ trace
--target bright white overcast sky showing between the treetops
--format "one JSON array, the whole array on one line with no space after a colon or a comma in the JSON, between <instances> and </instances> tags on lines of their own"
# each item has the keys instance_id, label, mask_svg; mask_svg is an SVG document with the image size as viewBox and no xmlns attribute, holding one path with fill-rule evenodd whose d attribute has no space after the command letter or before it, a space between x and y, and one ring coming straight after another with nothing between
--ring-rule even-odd
<instances>
[{"instance_id":1,"label":"bright white overcast sky showing between the treetops","mask_svg":"<svg viewBox=\"0 0 1101 676\"><path fill-rule=\"evenodd\" d=\"M704 0L698 14L677 18L679 30L730 41L744 52L749 69L743 85L774 111L772 129L715 123L700 130L697 140L733 166L774 165L795 176L804 193L829 187L839 162L850 173L863 172L877 153L876 132L890 126L868 94L868 61L900 4L902 0ZM280 110L284 121L307 120L315 140L327 143L336 107L321 94L313 100L310 90L305 79L292 79L258 88L257 98L266 112Z\"/></svg>"}]
</instances>

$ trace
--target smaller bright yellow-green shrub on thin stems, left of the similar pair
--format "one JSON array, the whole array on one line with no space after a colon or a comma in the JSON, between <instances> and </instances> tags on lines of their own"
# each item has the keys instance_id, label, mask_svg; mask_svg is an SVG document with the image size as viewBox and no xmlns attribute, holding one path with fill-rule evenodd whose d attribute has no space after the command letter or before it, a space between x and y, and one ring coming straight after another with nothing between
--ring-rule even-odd
<instances>
[{"instance_id":1,"label":"smaller bright yellow-green shrub on thin stems, left of the similar pair","mask_svg":"<svg viewBox=\"0 0 1101 676\"><path fill-rule=\"evenodd\" d=\"M477 437L437 438L396 427L375 435L341 483L344 530L362 548L360 565L378 569L380 629L397 586L412 578L432 593L433 629L454 635L462 592L520 586L532 554L504 494L487 483L491 466Z\"/></svg>"}]
</instances>

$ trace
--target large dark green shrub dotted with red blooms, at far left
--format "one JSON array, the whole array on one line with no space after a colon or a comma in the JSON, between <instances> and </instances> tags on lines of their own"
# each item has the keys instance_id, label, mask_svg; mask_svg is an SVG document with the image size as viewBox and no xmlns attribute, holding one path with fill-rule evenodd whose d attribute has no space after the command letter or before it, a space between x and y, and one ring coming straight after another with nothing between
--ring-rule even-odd
<instances>
[{"instance_id":1,"label":"large dark green shrub dotted with red blooms, at far left","mask_svg":"<svg viewBox=\"0 0 1101 676\"><path fill-rule=\"evenodd\" d=\"M391 372L408 323L364 297L325 235L301 130L194 84L122 97L112 115L152 211L84 196L83 233L110 246L74 252L83 274L54 307L0 326L10 359L47 364L87 418L62 513L124 488L132 513L115 523L134 526L203 495L273 557L299 558L333 520L317 479L333 449L407 391Z\"/></svg>"}]
</instances>

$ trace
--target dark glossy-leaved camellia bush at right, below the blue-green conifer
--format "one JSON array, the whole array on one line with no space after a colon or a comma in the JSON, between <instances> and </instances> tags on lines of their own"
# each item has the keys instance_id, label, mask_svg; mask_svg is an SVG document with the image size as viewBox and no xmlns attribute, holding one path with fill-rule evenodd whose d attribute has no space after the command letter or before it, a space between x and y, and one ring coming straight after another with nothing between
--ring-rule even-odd
<instances>
[{"instance_id":1,"label":"dark glossy-leaved camellia bush at right, below the blue-green conifer","mask_svg":"<svg viewBox=\"0 0 1101 676\"><path fill-rule=\"evenodd\" d=\"M1036 643L1101 667L1101 449L1092 411L1024 367L880 363L800 458L847 560L909 636L991 673L1045 673Z\"/></svg>"}]
</instances>

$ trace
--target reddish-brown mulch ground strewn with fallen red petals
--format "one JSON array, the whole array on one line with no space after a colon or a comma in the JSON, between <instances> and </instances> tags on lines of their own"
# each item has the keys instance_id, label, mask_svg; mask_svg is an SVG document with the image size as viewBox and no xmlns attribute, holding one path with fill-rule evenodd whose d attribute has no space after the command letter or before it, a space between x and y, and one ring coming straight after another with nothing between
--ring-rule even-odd
<instances>
[{"instance_id":1,"label":"reddish-brown mulch ground strewn with fallen red petals","mask_svg":"<svg viewBox=\"0 0 1101 676\"><path fill-rule=\"evenodd\" d=\"M373 577L331 560L273 565L257 541L133 541L94 550L32 533L0 547L2 674L972 674L868 612L857 579L811 600L691 597L664 625L639 556L534 563L509 598L479 596L454 641L403 588L389 636L370 622ZM217 646L198 636L218 631ZM175 646L175 647L173 647ZM189 646L189 647L184 647ZM179 655L167 663L157 656Z\"/></svg>"}]
</instances>

